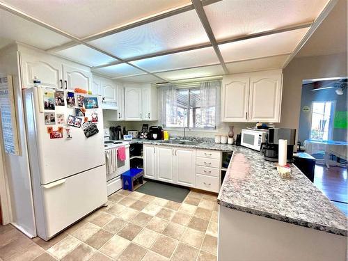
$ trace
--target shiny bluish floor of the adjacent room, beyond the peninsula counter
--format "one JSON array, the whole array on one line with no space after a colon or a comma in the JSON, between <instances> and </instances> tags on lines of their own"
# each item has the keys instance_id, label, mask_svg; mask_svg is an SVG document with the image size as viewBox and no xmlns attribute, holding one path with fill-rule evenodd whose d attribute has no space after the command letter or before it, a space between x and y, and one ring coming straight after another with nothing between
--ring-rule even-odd
<instances>
[{"instance_id":1,"label":"shiny bluish floor of the adjacent room, beyond the peninsula counter","mask_svg":"<svg viewBox=\"0 0 348 261\"><path fill-rule=\"evenodd\" d=\"M348 215L347 168L315 165L314 184Z\"/></svg>"}]
</instances>

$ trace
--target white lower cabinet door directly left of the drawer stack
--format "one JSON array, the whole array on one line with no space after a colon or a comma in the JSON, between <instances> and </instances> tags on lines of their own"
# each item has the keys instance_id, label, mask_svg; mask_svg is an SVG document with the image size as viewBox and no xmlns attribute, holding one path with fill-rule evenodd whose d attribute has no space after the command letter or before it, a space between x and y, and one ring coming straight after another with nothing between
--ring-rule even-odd
<instances>
[{"instance_id":1,"label":"white lower cabinet door directly left of the drawer stack","mask_svg":"<svg viewBox=\"0 0 348 261\"><path fill-rule=\"evenodd\" d=\"M175 183L187 187L196 184L196 150L175 148Z\"/></svg>"}]
</instances>

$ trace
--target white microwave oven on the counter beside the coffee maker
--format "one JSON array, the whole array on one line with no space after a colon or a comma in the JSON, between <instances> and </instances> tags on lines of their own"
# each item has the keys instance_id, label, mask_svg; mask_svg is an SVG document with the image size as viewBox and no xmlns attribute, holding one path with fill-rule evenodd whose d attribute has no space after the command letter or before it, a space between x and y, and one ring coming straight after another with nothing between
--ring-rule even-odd
<instances>
[{"instance_id":1,"label":"white microwave oven on the counter beside the coffee maker","mask_svg":"<svg viewBox=\"0 0 348 261\"><path fill-rule=\"evenodd\" d=\"M262 143L268 139L267 130L242 129L241 145L252 150L261 150Z\"/></svg>"}]
</instances>

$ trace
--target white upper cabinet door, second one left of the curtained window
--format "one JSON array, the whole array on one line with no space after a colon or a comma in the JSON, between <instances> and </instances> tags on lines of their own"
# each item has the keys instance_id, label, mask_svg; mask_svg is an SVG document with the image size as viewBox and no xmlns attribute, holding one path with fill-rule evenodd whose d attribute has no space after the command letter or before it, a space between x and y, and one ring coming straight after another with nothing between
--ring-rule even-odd
<instances>
[{"instance_id":1,"label":"white upper cabinet door, second one left of the curtained window","mask_svg":"<svg viewBox=\"0 0 348 261\"><path fill-rule=\"evenodd\" d=\"M125 120L141 120L141 88L139 86L125 86Z\"/></svg>"}]
</instances>

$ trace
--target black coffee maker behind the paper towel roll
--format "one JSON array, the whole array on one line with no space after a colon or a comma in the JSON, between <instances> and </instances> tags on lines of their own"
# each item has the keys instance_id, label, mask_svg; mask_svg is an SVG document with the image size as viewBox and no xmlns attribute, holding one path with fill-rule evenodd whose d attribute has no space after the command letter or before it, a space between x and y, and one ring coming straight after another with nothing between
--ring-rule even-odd
<instances>
[{"instance_id":1,"label":"black coffee maker behind the paper towel roll","mask_svg":"<svg viewBox=\"0 0 348 261\"><path fill-rule=\"evenodd\" d=\"M261 145L261 155L267 161L278 161L279 140L287 140L287 163L292 163L294 145L296 139L296 129L271 128L269 129L268 140Z\"/></svg>"}]
</instances>

